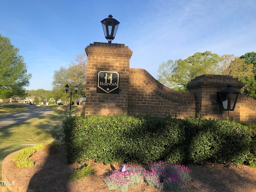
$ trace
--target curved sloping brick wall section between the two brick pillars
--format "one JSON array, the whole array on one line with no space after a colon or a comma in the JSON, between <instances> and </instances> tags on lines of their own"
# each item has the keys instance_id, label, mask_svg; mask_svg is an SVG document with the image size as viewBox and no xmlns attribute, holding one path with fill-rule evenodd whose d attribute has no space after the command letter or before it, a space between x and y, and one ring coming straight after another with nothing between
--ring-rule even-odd
<instances>
[{"instance_id":1,"label":"curved sloping brick wall section between the two brick pillars","mask_svg":"<svg viewBox=\"0 0 256 192\"><path fill-rule=\"evenodd\" d=\"M177 115L192 117L195 112L194 94L172 90L144 69L130 68L128 114L154 116Z\"/></svg>"}]
</instances>

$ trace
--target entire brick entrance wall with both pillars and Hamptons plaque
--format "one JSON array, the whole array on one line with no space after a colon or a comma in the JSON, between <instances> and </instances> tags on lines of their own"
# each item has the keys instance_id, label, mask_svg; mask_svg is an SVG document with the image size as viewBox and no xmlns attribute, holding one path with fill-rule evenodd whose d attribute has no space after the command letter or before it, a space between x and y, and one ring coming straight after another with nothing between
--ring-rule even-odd
<instances>
[{"instance_id":1,"label":"entire brick entrance wall with both pillars and Hamptons plaque","mask_svg":"<svg viewBox=\"0 0 256 192\"><path fill-rule=\"evenodd\" d=\"M124 44L94 42L88 56L85 115L145 115L256 122L256 100L239 95L234 111L222 111L217 92L244 86L232 76L205 74L188 83L189 92L172 90L144 69L130 68L132 50Z\"/></svg>"}]
</instances>

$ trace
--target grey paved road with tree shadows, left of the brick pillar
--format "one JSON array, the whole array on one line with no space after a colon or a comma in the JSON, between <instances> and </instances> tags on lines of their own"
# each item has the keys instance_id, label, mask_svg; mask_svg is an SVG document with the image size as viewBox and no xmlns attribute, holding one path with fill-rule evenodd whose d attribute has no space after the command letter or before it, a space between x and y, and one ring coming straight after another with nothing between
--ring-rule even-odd
<instances>
[{"instance_id":1,"label":"grey paved road with tree shadows, left of the brick pillar","mask_svg":"<svg viewBox=\"0 0 256 192\"><path fill-rule=\"evenodd\" d=\"M34 105L24 106L28 108L28 110L7 115L0 115L0 128L12 124L20 124L30 119L37 118L39 116L44 116L52 112L51 109L48 109L46 107L38 107Z\"/></svg>"}]
</instances>

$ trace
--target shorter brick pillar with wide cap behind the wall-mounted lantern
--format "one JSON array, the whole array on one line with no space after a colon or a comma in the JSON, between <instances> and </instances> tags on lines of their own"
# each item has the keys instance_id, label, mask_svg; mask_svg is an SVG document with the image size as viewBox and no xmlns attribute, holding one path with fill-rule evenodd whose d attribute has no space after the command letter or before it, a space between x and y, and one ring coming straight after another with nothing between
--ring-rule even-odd
<instances>
[{"instance_id":1,"label":"shorter brick pillar with wide cap behind the wall-mounted lantern","mask_svg":"<svg viewBox=\"0 0 256 192\"><path fill-rule=\"evenodd\" d=\"M226 119L228 114L230 119L235 117L240 119L239 102L236 103L234 111L222 111L220 102L217 101L217 92L231 85L233 89L240 92L244 86L238 78L224 75L201 75L187 84L189 92L193 92L196 98L196 112L200 112L203 118ZM238 98L239 100L239 98Z\"/></svg>"}]
</instances>

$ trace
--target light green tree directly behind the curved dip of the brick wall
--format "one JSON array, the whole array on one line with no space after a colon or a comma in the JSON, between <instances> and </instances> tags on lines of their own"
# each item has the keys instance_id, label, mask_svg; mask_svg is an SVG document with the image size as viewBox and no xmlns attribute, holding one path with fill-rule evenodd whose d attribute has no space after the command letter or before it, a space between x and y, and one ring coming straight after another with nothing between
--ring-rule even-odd
<instances>
[{"instance_id":1,"label":"light green tree directly behind the curved dip of the brick wall","mask_svg":"<svg viewBox=\"0 0 256 192\"><path fill-rule=\"evenodd\" d=\"M218 54L210 51L197 52L185 60L179 59L175 62L169 60L159 66L158 80L170 88L187 91L186 85L196 76L216 74L220 60Z\"/></svg>"}]
</instances>

